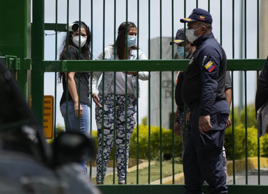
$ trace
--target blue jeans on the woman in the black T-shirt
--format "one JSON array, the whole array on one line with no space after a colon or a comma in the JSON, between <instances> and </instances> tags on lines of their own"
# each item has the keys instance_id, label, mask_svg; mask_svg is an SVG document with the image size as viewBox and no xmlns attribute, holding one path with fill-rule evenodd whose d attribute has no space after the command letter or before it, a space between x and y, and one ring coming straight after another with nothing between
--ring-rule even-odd
<instances>
[{"instance_id":1,"label":"blue jeans on the woman in the black T-shirt","mask_svg":"<svg viewBox=\"0 0 268 194\"><path fill-rule=\"evenodd\" d=\"M75 109L74 109L74 101L70 100L68 101L68 123L66 123L66 102L63 103L60 106L60 112L62 114L62 117L64 119L65 124L65 130L66 132L80 132L81 134L85 134L88 136L89 132L89 107L83 103L80 102L82 108L83 108L83 115L80 117L80 128L78 128L78 121L79 118L75 115ZM82 170L87 175L87 161L80 162L80 166Z\"/></svg>"}]
</instances>

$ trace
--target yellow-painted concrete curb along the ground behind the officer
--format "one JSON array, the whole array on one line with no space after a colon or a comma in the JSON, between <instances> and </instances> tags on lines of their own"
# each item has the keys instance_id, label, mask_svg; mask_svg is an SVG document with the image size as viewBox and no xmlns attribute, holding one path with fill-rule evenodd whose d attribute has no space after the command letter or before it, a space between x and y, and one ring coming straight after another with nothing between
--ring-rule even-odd
<instances>
[{"instance_id":1,"label":"yellow-painted concrete curb along the ground behind the officer","mask_svg":"<svg viewBox=\"0 0 268 194\"><path fill-rule=\"evenodd\" d=\"M247 158L248 170L258 169L258 157ZM260 157L260 168L268 167L268 158ZM235 160L235 172L243 172L246 169L246 159ZM233 161L227 161L227 176L233 174ZM162 179L162 184L172 184L173 177ZM151 182L150 184L160 184L160 180ZM174 184L184 184L184 173L174 175Z\"/></svg>"}]
</instances>

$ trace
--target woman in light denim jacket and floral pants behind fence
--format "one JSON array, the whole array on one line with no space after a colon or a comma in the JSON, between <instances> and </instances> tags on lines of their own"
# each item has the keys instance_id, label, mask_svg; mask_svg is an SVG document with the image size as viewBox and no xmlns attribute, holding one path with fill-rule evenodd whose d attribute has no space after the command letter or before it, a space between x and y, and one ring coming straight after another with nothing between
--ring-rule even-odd
<instances>
[{"instance_id":1,"label":"woman in light denim jacket and floral pants behind fence","mask_svg":"<svg viewBox=\"0 0 268 194\"><path fill-rule=\"evenodd\" d=\"M127 26L127 27L126 27ZM126 40L127 28L127 40ZM145 54L135 45L137 36L137 27L132 22L123 22L118 28L116 46L109 45L104 49L104 60L147 60ZM126 56L127 44L127 56ZM114 52L116 56L114 58ZM138 56L137 56L138 55ZM99 53L96 60L103 60L103 51ZM127 62L125 64L128 65ZM149 72L105 72L104 73L104 90L102 90L103 80L100 81L97 94L97 85L102 72L94 72L92 80L92 98L96 104L95 119L98 128L99 148L97 152L97 184L104 182L104 177L109 161L111 148L113 146L114 131L116 132L116 163L118 184L125 184L125 162L128 166L128 149L131 135L137 120L137 98L140 97L140 88L137 83L137 76L140 80L148 80ZM115 81L114 81L115 76ZM103 79L103 77L102 77ZM127 88L125 87L127 83ZM114 90L115 84L115 90ZM138 96L137 96L138 87ZM127 90L127 95L125 95ZM115 115L114 115L114 98L115 98ZM102 107L102 104L104 107ZM125 104L127 106L127 116L125 117ZM102 110L104 109L104 117ZM115 130L114 130L115 116ZM103 119L103 136L102 139L102 119ZM125 122L127 122L127 143L125 156ZM102 178L102 141L103 141L103 178Z\"/></svg>"}]
</instances>

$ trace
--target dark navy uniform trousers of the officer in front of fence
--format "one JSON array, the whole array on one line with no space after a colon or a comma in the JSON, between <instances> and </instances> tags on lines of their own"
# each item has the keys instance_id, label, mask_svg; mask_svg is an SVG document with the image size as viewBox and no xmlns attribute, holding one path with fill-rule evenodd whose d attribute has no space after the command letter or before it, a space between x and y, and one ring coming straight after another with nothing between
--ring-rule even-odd
<instances>
[{"instance_id":1,"label":"dark navy uniform trousers of the officer in front of fence","mask_svg":"<svg viewBox=\"0 0 268 194\"><path fill-rule=\"evenodd\" d=\"M200 106L190 115L183 156L184 193L202 193L204 180L210 193L227 193L222 164L225 124L230 109L226 100L216 102L211 115L212 129L202 135L198 129Z\"/></svg>"}]
</instances>

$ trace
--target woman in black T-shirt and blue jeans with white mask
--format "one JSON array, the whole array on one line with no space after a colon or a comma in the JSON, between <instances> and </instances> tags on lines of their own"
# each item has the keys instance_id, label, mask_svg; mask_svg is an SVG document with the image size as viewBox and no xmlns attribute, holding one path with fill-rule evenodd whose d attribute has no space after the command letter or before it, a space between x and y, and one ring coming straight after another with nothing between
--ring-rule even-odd
<instances>
[{"instance_id":1,"label":"woman in black T-shirt and blue jeans with white mask","mask_svg":"<svg viewBox=\"0 0 268 194\"><path fill-rule=\"evenodd\" d=\"M75 21L74 23L79 23ZM62 50L60 52L60 60L66 60L66 50L68 47L69 51L69 60L79 60L79 30L81 31L80 36L80 48L81 60L90 60L90 41L91 33L89 27L81 21L81 27L77 32L69 33L64 38L62 43ZM66 44L68 38L68 45ZM80 79L79 79L80 74ZM58 73L58 82L62 82L63 93L60 99L60 112L64 118L64 124L66 132L75 131L82 134L88 135L89 132L89 77L88 72L77 73L69 72L68 73L68 113L66 112L66 81L67 81L67 72ZM78 83L80 82L80 91L78 91ZM79 95L78 95L79 94ZM79 108L80 107L80 108ZM68 122L67 118L68 117ZM81 168L84 173L87 175L87 163L83 161L80 163Z\"/></svg>"}]
</instances>

